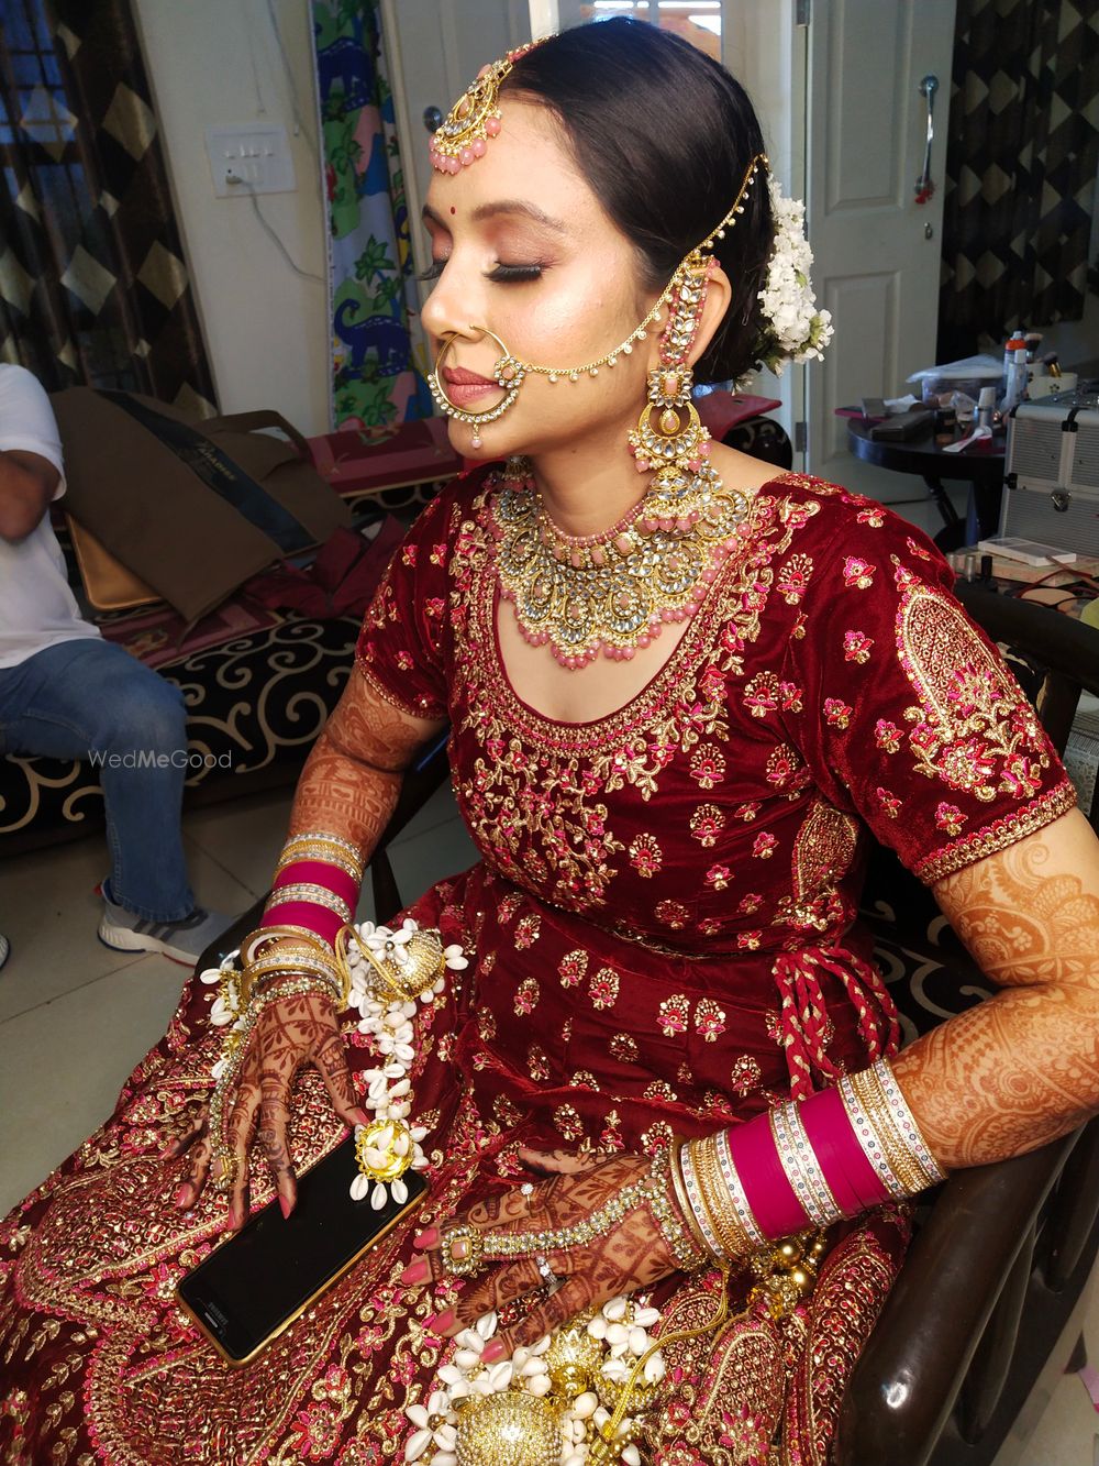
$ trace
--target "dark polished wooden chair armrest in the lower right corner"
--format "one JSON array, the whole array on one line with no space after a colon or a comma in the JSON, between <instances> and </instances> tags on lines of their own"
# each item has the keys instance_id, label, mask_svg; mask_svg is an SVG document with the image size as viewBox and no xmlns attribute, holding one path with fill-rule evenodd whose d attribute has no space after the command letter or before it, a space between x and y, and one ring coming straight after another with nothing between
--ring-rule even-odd
<instances>
[{"instance_id":1,"label":"dark polished wooden chair armrest in the lower right corner","mask_svg":"<svg viewBox=\"0 0 1099 1466\"><path fill-rule=\"evenodd\" d=\"M958 1171L941 1189L851 1375L837 1466L925 1466L1077 1138Z\"/></svg>"}]
</instances>

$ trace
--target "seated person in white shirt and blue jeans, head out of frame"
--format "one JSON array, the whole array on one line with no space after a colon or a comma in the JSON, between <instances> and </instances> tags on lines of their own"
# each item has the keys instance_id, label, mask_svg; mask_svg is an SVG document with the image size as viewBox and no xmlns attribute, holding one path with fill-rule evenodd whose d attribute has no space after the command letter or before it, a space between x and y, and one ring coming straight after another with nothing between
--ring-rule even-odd
<instances>
[{"instance_id":1,"label":"seated person in white shirt and blue jeans, head out of frame","mask_svg":"<svg viewBox=\"0 0 1099 1466\"><path fill-rule=\"evenodd\" d=\"M0 364L0 752L95 759L111 855L100 940L193 963L229 918L188 884L183 698L81 617L50 528L63 493L50 400Z\"/></svg>"}]
</instances>

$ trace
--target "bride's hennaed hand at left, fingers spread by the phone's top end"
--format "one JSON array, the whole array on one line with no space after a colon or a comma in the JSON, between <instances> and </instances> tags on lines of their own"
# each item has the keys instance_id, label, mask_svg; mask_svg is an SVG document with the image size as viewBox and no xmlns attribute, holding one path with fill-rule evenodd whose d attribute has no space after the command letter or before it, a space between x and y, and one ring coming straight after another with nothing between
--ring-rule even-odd
<instances>
[{"instance_id":1,"label":"bride's hennaed hand at left, fingers spread by the phone's top end","mask_svg":"<svg viewBox=\"0 0 1099 1466\"><path fill-rule=\"evenodd\" d=\"M248 1039L234 1089L224 1104L224 1145L227 1170L234 1176L229 1195L227 1229L236 1231L248 1217L248 1149L258 1121L258 1139L278 1192L278 1205L289 1217L297 1196L297 1179L290 1158L287 1127L290 1092L302 1064L314 1064L324 1080L333 1108L347 1124L366 1124L352 1085L347 1058L331 997L319 991L278 998L259 1014ZM215 1157L214 1136L208 1126L210 1107L204 1105L198 1123L164 1151L174 1160L190 1148L188 1179L174 1193L182 1211L189 1211L208 1182L217 1185L226 1170L223 1155ZM211 1177L212 1170L212 1177Z\"/></svg>"}]
</instances>

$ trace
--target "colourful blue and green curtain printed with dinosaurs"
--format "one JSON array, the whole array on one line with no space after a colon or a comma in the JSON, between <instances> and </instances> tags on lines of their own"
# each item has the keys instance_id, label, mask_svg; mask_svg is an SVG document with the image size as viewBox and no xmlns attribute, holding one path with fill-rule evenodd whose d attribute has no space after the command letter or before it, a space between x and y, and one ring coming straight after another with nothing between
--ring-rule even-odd
<instances>
[{"instance_id":1,"label":"colourful blue and green curtain printed with dinosaurs","mask_svg":"<svg viewBox=\"0 0 1099 1466\"><path fill-rule=\"evenodd\" d=\"M328 199L333 415L377 428L431 416L404 176L378 0L314 0Z\"/></svg>"}]
</instances>

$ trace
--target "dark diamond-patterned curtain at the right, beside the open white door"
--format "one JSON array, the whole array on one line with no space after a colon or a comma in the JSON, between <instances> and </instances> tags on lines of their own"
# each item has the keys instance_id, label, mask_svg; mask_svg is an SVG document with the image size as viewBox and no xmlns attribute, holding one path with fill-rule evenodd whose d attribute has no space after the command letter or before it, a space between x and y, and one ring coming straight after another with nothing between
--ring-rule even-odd
<instances>
[{"instance_id":1,"label":"dark diamond-patterned curtain at the right, beside the open white door","mask_svg":"<svg viewBox=\"0 0 1099 1466\"><path fill-rule=\"evenodd\" d=\"M1099 0L958 0L939 361L1078 321L1099 167Z\"/></svg>"}]
</instances>

